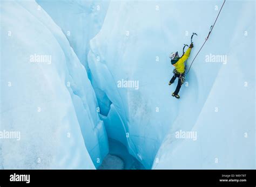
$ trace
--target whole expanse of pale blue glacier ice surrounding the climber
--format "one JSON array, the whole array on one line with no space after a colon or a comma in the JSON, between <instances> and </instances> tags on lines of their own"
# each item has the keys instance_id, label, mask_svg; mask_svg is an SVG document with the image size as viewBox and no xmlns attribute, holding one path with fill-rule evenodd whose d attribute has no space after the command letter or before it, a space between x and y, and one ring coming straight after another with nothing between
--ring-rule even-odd
<instances>
[{"instance_id":1,"label":"whole expanse of pale blue glacier ice surrounding the climber","mask_svg":"<svg viewBox=\"0 0 256 187\"><path fill-rule=\"evenodd\" d=\"M0 167L255 169L255 1L226 1L168 85L222 3L2 1L0 131L21 140Z\"/></svg>"}]
</instances>

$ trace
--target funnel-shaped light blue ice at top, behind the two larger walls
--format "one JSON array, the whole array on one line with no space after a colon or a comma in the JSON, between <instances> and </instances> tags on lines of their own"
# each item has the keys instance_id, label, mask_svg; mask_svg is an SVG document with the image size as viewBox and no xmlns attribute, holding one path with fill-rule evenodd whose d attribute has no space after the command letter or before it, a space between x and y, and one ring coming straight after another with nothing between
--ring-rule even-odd
<instances>
[{"instance_id":1,"label":"funnel-shaped light blue ice at top, behind the two larger walls","mask_svg":"<svg viewBox=\"0 0 256 187\"><path fill-rule=\"evenodd\" d=\"M102 27L109 1L36 0L62 29L80 62L87 66L89 42ZM90 72L89 72L90 73Z\"/></svg>"}]
</instances>

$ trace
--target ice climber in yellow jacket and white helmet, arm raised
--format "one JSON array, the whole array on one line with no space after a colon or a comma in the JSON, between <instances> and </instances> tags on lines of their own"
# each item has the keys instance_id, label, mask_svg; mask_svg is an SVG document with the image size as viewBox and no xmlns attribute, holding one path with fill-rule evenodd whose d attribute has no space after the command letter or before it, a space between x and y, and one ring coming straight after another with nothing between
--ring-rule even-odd
<instances>
[{"instance_id":1,"label":"ice climber in yellow jacket and white helmet, arm raised","mask_svg":"<svg viewBox=\"0 0 256 187\"><path fill-rule=\"evenodd\" d=\"M181 57L179 57L178 52L170 54L171 63L175 68L173 70L174 75L170 80L169 85L174 83L177 77L179 78L176 90L172 93L172 97L176 97L177 99L180 98L178 93L181 85L185 81L185 62L190 56L190 52L192 48L193 48L193 44L190 44L187 51Z\"/></svg>"}]
</instances>

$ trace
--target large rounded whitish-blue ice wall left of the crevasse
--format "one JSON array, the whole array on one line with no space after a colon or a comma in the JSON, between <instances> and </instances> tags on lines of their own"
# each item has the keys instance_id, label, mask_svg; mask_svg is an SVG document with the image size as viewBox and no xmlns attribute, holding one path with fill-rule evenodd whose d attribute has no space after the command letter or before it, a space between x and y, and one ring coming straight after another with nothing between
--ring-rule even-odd
<instances>
[{"instance_id":1,"label":"large rounded whitish-blue ice wall left of the crevasse","mask_svg":"<svg viewBox=\"0 0 256 187\"><path fill-rule=\"evenodd\" d=\"M1 2L0 130L21 133L1 139L5 169L93 169L108 152L86 70L34 1Z\"/></svg>"}]
</instances>

